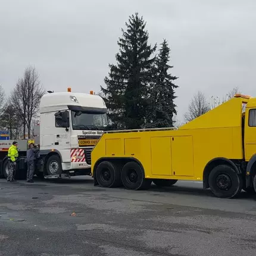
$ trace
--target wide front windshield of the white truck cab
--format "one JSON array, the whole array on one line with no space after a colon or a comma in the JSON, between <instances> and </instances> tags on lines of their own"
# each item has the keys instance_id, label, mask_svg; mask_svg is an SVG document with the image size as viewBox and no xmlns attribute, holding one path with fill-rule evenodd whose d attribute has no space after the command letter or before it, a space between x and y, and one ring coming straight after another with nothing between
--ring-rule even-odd
<instances>
[{"instance_id":1,"label":"wide front windshield of the white truck cab","mask_svg":"<svg viewBox=\"0 0 256 256\"><path fill-rule=\"evenodd\" d=\"M107 114L71 111L73 130L104 130L108 126Z\"/></svg>"}]
</instances>

